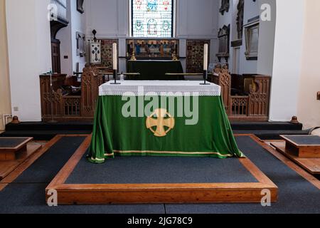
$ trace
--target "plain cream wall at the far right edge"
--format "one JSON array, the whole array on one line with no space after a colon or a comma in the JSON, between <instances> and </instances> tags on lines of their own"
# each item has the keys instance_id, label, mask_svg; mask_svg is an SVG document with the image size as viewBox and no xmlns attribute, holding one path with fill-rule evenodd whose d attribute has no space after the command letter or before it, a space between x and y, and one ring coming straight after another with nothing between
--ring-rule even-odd
<instances>
[{"instance_id":1,"label":"plain cream wall at the far right edge","mask_svg":"<svg viewBox=\"0 0 320 228\"><path fill-rule=\"evenodd\" d=\"M302 70L299 81L298 118L304 128L320 126L319 26L320 1L307 0L304 21L304 47L302 50Z\"/></svg>"}]
</instances>

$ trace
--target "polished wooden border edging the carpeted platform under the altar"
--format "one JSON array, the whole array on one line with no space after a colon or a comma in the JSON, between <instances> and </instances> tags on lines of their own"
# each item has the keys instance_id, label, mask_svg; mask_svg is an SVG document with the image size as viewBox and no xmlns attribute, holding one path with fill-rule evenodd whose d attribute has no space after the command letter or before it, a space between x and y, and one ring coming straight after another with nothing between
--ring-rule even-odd
<instances>
[{"instance_id":1,"label":"polished wooden border edging the carpeted platform under the altar","mask_svg":"<svg viewBox=\"0 0 320 228\"><path fill-rule=\"evenodd\" d=\"M87 151L88 137L46 188L58 192L58 204L143 204L143 203L260 203L262 190L270 190L272 202L278 189L249 159L242 165L258 180L252 183L211 184L124 184L67 185L65 181ZM46 195L47 199L48 195Z\"/></svg>"}]
</instances>

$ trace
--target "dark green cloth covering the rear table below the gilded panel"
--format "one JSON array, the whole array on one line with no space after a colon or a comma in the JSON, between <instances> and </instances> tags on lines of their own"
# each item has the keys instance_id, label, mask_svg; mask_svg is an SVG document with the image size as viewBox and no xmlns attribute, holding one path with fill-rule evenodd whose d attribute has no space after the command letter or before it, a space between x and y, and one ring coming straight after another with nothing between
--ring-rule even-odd
<instances>
[{"instance_id":1,"label":"dark green cloth covering the rear table below the gilded panel","mask_svg":"<svg viewBox=\"0 0 320 228\"><path fill-rule=\"evenodd\" d=\"M128 73L140 73L140 76L128 76L129 80L183 80L183 76L166 76L166 73L183 73L181 61L127 61Z\"/></svg>"}]
</instances>

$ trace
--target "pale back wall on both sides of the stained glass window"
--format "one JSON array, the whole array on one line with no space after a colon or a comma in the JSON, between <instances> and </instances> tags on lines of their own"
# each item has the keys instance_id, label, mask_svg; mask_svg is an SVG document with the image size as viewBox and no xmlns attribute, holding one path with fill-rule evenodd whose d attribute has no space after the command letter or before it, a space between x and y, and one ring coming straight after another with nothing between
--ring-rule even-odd
<instances>
[{"instance_id":1,"label":"pale back wall on both sides of the stained glass window","mask_svg":"<svg viewBox=\"0 0 320 228\"><path fill-rule=\"evenodd\" d=\"M126 56L125 41L129 38L129 0L87 0L87 36L97 30L97 38L119 38L119 56ZM211 40L211 62L215 62L218 34L218 0L177 0L176 38L180 39L180 56L183 66L186 57L186 39ZM119 60L120 71L126 61Z\"/></svg>"}]
</instances>

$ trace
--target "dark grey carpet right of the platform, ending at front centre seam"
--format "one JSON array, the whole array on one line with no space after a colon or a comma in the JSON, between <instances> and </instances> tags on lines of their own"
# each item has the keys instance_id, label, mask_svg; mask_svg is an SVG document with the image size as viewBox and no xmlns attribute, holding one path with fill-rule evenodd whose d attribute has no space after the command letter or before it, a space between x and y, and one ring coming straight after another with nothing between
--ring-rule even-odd
<instances>
[{"instance_id":1,"label":"dark grey carpet right of the platform, ending at front centre seam","mask_svg":"<svg viewBox=\"0 0 320 228\"><path fill-rule=\"evenodd\" d=\"M237 137L240 150L279 187L279 200L272 207L260 204L166 204L166 212L174 213L320 213L320 190L260 147L250 137Z\"/></svg>"}]
</instances>

